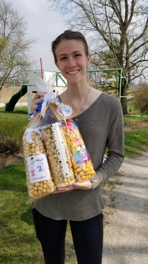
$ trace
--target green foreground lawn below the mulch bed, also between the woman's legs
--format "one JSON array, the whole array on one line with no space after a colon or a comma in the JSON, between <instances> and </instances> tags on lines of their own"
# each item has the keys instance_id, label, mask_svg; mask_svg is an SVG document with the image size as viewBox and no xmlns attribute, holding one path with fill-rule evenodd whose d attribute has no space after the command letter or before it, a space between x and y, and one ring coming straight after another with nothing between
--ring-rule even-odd
<instances>
[{"instance_id":1,"label":"green foreground lawn below the mulch bed, also between the woman's legs","mask_svg":"<svg viewBox=\"0 0 148 264\"><path fill-rule=\"evenodd\" d=\"M0 170L0 263L44 263L42 249L35 235L32 204L28 193L24 163ZM66 262L75 264L70 227L66 236Z\"/></svg>"}]
</instances>

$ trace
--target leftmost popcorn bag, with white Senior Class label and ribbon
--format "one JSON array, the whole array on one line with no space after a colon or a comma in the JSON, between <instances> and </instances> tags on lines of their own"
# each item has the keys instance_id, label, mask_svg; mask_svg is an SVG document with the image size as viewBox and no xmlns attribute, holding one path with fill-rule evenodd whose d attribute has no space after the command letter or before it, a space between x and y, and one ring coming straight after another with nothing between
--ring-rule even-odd
<instances>
[{"instance_id":1,"label":"leftmost popcorn bag, with white Senior Class label and ribbon","mask_svg":"<svg viewBox=\"0 0 148 264\"><path fill-rule=\"evenodd\" d=\"M27 128L23 136L23 152L27 189L27 203L51 194L56 187L51 180L51 171L46 156L42 135L38 129Z\"/></svg>"}]
</instances>

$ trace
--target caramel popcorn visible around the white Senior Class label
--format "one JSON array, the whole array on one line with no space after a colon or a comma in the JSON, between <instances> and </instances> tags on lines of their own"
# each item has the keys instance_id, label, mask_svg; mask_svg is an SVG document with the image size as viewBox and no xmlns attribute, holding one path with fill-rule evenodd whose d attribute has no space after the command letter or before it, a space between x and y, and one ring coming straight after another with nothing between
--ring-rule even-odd
<instances>
[{"instance_id":1,"label":"caramel popcorn visible around the white Senior Class label","mask_svg":"<svg viewBox=\"0 0 148 264\"><path fill-rule=\"evenodd\" d=\"M32 138L32 143L28 143L26 140L26 136L23 137L23 151L24 151L24 162L25 162L28 194L32 200L35 200L44 197L48 194L51 194L52 192L54 192L54 190L56 190L56 187L51 179L33 182L33 183L30 182L30 174L28 170L27 158L31 156L35 156L34 157L35 160L35 158L38 157L36 155L46 154L45 145L43 143L41 136L37 132L32 132L31 138ZM41 167L42 170L42 166L38 166L38 167ZM48 167L48 169L51 175L50 168Z\"/></svg>"}]
</instances>

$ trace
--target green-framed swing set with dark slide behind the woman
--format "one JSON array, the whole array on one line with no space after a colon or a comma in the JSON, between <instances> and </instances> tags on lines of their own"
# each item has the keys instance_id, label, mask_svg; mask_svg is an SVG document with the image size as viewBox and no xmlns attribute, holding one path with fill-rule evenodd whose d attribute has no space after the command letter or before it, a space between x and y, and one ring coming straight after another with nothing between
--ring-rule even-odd
<instances>
[{"instance_id":1,"label":"green-framed swing set with dark slide behind the woman","mask_svg":"<svg viewBox=\"0 0 148 264\"><path fill-rule=\"evenodd\" d=\"M54 87L57 87L57 89L58 88L64 89L64 90L66 89L67 82L63 78L63 76L61 75L61 72L44 71L44 70L42 70L42 71L43 71L43 73L46 73L47 75L50 75L50 74L55 74L56 75ZM22 85L20 91L18 92L19 94L18 93L15 94L15 82L14 82L14 92L13 92L14 95L13 95L13 97L17 97L17 98L16 99L15 98L13 99L13 97L11 98L14 101L13 107L11 107L12 109L9 109L9 110L5 109L5 111L13 111L13 109L15 107L15 104L16 104L16 100L18 101L18 97L21 98L27 92L27 90L29 91L28 98L30 96L30 100L32 99L32 91L34 91L34 89L35 89L35 85L34 85L33 80L36 77L39 77L39 76L35 76L35 75L37 75L38 72L40 74L41 71L40 70L30 70L28 72L30 72L30 77L29 77L29 74L28 74L28 79L25 79L25 80L23 79L23 81L26 81L26 84ZM138 106L138 104L136 102L134 94L133 94L133 92L132 92L132 90L131 90L131 88L130 88L130 86L128 84L128 81L127 81L127 79L125 77L125 74L124 74L122 68L119 68L119 69L103 69L103 70L87 70L86 72L90 73L90 75L91 74L95 75L95 78L96 78L95 82L97 83L97 85L101 84L101 86L100 86L101 89L103 89L103 88L107 89L109 87L109 88L115 89L116 92L118 90L118 99L119 99L119 101L121 101L122 97L126 97L128 99L132 98L132 101L133 100L135 101L135 104L136 104L137 109L138 109L138 111L140 113L140 116L142 116L142 113L141 113L141 111L139 109L139 106ZM32 73L32 75L31 75L31 73ZM99 77L99 75L100 75L100 77ZM103 78L103 80L101 81L102 78ZM121 96L121 81L122 81L122 79L125 79L126 84L128 85L128 88L130 90L131 96ZM22 79L21 80L19 79L19 81L21 81L21 84L22 84ZM117 87L117 85L118 85L118 87ZM12 104L11 101L12 100L10 100L6 104L6 106L7 105L9 106L9 104ZM29 109L29 106L30 106L30 103L28 103L28 109ZM28 114L31 113L30 111L31 110L28 111ZM130 112L130 115L132 115L132 104L131 104L131 108L130 108L129 112ZM132 116L134 116L134 115L132 115Z\"/></svg>"}]
</instances>

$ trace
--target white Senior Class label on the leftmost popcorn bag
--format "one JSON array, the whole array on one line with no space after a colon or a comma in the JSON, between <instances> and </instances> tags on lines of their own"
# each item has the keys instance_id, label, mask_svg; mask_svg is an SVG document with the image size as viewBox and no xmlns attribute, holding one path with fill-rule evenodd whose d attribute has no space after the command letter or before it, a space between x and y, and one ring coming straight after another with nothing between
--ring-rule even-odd
<instances>
[{"instance_id":1,"label":"white Senior Class label on the leftmost popcorn bag","mask_svg":"<svg viewBox=\"0 0 148 264\"><path fill-rule=\"evenodd\" d=\"M30 182L41 182L50 179L46 154L27 157Z\"/></svg>"}]
</instances>

